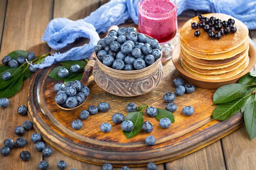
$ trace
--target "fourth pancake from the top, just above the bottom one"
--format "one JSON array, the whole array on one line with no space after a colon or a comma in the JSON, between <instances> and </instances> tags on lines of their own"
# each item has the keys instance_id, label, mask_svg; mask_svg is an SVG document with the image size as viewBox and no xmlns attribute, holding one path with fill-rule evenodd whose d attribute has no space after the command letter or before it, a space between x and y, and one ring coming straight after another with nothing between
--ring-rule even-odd
<instances>
[{"instance_id":1,"label":"fourth pancake from the top, just above the bottom one","mask_svg":"<svg viewBox=\"0 0 256 170\"><path fill-rule=\"evenodd\" d=\"M186 67L188 67L191 71L194 71L195 73L199 73L203 75L219 75L219 74L228 73L230 71L234 71L235 69L239 68L241 65L245 63L245 61L247 60L247 57L248 57L248 52L245 53L245 55L243 55L243 60L241 60L240 62L237 62L236 64L226 68L219 68L215 70L207 70L207 69L194 67L190 65L188 62L186 62L186 60L182 60L182 62L184 65L186 65Z\"/></svg>"}]
</instances>

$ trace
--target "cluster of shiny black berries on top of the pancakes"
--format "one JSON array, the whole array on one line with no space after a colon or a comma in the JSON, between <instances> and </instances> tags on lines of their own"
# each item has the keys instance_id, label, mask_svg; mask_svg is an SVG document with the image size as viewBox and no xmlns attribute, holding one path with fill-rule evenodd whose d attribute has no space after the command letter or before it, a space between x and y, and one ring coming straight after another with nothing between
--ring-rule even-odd
<instances>
[{"instance_id":1,"label":"cluster of shiny black berries on top of the pancakes","mask_svg":"<svg viewBox=\"0 0 256 170\"><path fill-rule=\"evenodd\" d=\"M229 18L228 21L222 21L220 19L216 19L214 16L211 16L211 18L207 18L200 14L198 15L198 19L201 22L199 22L199 24L197 22L192 22L192 29L198 29L200 27L204 30L204 32L208 33L211 40L213 38L215 38L216 40L220 40L221 36L223 35L229 35L229 33L236 33L236 27L234 26L235 20L232 18ZM201 29L195 31L195 37L200 36Z\"/></svg>"}]
</instances>

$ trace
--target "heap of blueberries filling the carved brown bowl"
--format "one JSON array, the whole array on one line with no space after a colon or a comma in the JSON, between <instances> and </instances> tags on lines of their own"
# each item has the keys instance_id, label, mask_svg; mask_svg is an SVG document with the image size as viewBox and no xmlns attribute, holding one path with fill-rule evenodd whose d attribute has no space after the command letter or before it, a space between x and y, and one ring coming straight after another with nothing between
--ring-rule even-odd
<instances>
[{"instance_id":1,"label":"heap of blueberries filling the carved brown bowl","mask_svg":"<svg viewBox=\"0 0 256 170\"><path fill-rule=\"evenodd\" d=\"M100 39L95 53L106 66L116 70L140 70L161 57L162 48L154 38L137 33L136 28L121 27L111 30L108 37Z\"/></svg>"}]
</instances>

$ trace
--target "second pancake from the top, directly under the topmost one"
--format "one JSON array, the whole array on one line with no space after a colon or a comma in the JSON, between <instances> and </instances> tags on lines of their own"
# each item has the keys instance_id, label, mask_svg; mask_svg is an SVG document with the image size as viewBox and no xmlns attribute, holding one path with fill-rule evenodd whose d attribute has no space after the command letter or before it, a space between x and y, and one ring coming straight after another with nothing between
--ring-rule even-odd
<instances>
[{"instance_id":1,"label":"second pancake from the top, directly under the topmost one","mask_svg":"<svg viewBox=\"0 0 256 170\"><path fill-rule=\"evenodd\" d=\"M181 44L181 48L184 51L186 51L187 53L189 53L189 55L195 58L203 59L203 60L224 60L224 59L231 58L238 55L239 53L241 53L241 51L245 51L249 46L249 36L247 36L245 42L242 45L238 46L236 49L227 51L226 53L219 53L219 54L209 55L209 54L196 53L195 51L188 49L182 41L180 44Z\"/></svg>"}]
</instances>

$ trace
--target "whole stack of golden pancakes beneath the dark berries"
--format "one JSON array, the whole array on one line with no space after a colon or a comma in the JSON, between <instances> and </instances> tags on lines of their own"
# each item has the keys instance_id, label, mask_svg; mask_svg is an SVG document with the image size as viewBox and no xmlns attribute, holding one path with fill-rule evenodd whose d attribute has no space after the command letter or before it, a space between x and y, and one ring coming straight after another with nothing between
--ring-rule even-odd
<instances>
[{"instance_id":1,"label":"whole stack of golden pancakes beneath the dark berries","mask_svg":"<svg viewBox=\"0 0 256 170\"><path fill-rule=\"evenodd\" d=\"M200 36L195 37L191 22L198 22L198 17L184 24L180 32L181 65L186 72L202 79L226 79L238 75L249 64L248 29L239 20L225 14L209 13L204 17L227 21L235 20L236 33L224 35L220 40L211 40L203 29Z\"/></svg>"}]
</instances>

